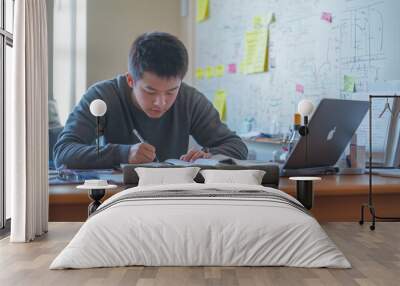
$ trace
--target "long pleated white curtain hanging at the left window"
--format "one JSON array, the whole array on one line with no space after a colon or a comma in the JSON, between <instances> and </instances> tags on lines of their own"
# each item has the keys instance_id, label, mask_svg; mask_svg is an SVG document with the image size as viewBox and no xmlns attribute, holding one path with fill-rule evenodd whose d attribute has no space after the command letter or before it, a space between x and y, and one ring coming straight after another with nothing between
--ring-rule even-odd
<instances>
[{"instance_id":1,"label":"long pleated white curtain hanging at the left window","mask_svg":"<svg viewBox=\"0 0 400 286\"><path fill-rule=\"evenodd\" d=\"M17 0L13 94L7 98L6 181L12 242L48 228L47 21L45 0Z\"/></svg>"}]
</instances>

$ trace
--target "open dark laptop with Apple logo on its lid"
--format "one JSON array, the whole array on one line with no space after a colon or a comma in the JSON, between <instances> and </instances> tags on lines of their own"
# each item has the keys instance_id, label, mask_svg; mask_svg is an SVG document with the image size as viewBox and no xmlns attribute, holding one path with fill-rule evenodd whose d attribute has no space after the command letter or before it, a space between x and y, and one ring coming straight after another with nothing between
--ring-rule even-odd
<instances>
[{"instance_id":1,"label":"open dark laptop with Apple logo on its lid","mask_svg":"<svg viewBox=\"0 0 400 286\"><path fill-rule=\"evenodd\" d=\"M320 169L322 174L324 168L333 167L363 120L368 107L368 101L322 99L308 125L307 160L306 138L301 137L282 166L282 173L306 175L312 174L307 170ZM298 170L300 173L290 170Z\"/></svg>"}]
</instances>

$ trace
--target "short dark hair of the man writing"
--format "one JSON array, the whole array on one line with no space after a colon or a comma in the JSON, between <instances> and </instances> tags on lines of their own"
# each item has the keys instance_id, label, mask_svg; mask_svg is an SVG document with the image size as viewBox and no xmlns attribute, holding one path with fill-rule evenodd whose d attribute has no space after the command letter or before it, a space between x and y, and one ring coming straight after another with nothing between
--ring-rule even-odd
<instances>
[{"instance_id":1,"label":"short dark hair of the man writing","mask_svg":"<svg viewBox=\"0 0 400 286\"><path fill-rule=\"evenodd\" d=\"M188 69L188 53L175 36L163 32L140 35L129 50L128 71L135 80L144 72L152 72L162 78L185 76Z\"/></svg>"}]
</instances>

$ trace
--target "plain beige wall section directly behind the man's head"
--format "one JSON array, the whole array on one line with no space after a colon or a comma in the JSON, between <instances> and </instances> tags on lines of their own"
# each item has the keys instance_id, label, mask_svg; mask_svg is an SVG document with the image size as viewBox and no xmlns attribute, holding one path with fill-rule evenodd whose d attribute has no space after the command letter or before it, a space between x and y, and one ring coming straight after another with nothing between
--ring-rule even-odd
<instances>
[{"instance_id":1,"label":"plain beige wall section directly behind the man's head","mask_svg":"<svg viewBox=\"0 0 400 286\"><path fill-rule=\"evenodd\" d=\"M132 41L148 31L182 38L180 0L88 0L88 86L127 71Z\"/></svg>"}]
</instances>

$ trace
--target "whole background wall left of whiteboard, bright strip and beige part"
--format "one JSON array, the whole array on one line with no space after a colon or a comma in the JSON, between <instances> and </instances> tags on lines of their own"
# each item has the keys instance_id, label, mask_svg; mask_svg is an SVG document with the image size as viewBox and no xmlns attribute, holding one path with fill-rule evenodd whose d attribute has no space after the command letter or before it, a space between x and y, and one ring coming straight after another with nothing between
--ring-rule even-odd
<instances>
[{"instance_id":1,"label":"whole background wall left of whiteboard, bright strip and beige part","mask_svg":"<svg viewBox=\"0 0 400 286\"><path fill-rule=\"evenodd\" d=\"M186 17L181 16L182 3L188 4ZM129 47L147 31L168 32L185 43L189 52L185 81L191 83L194 6L191 0L54 0L53 91L49 92L57 101L61 124L90 85L127 71Z\"/></svg>"}]
</instances>

